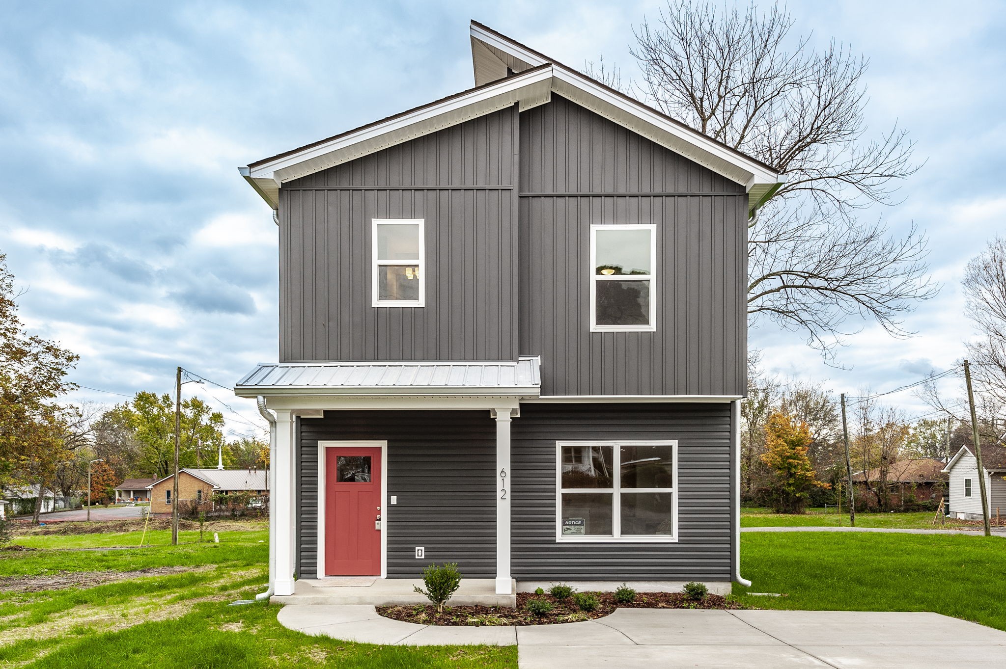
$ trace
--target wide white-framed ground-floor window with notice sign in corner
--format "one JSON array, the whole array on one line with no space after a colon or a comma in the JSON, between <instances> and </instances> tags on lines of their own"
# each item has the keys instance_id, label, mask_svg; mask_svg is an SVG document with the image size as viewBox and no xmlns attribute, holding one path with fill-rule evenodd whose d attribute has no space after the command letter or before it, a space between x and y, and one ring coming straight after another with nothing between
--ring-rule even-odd
<instances>
[{"instance_id":1,"label":"wide white-framed ground-floor window with notice sign in corner","mask_svg":"<svg viewBox=\"0 0 1006 669\"><path fill-rule=\"evenodd\" d=\"M678 540L678 442L555 444L555 540Z\"/></svg>"}]
</instances>

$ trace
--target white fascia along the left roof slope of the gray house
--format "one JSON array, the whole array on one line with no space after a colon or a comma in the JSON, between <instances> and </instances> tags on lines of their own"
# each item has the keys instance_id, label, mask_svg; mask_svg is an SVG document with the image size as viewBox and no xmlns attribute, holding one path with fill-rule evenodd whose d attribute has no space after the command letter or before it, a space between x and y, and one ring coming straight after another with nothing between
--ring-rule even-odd
<instances>
[{"instance_id":1,"label":"white fascia along the left roof slope of the gray house","mask_svg":"<svg viewBox=\"0 0 1006 669\"><path fill-rule=\"evenodd\" d=\"M247 170L247 177L253 179L273 179L278 184L291 181L292 179L299 178L298 176L290 175L291 168L302 163L312 161L315 159L320 159L328 154L332 154L338 151L346 150L354 145L359 145L365 142L372 142L379 140L382 136L406 131L409 127L416 126L424 123L429 123L437 120L439 117L445 115L451 115L452 113L464 109L468 106L486 104L485 109L477 116L483 116L485 114L490 114L499 108L508 106L514 102L520 101L522 95L520 93L531 92L532 98L539 99L540 91L534 90L535 84L548 84L552 77L552 68L545 67L540 71L526 74L524 76L511 77L507 79L500 80L499 83L495 85L486 86L484 88L479 88L473 90L467 94L459 95L448 100L444 100L439 104L433 104L430 106L425 106L411 114L406 114L404 116L398 117L397 119L392 119L386 123L377 124L369 128L364 128L363 130L346 135L324 144L320 144L316 147L311 147L310 149L305 149L304 151L298 152L291 156L285 156L283 158L278 158L274 161L270 161L264 165L260 165ZM494 102L494 98L498 98ZM458 121L452 121L451 123L445 123L444 128L453 126ZM440 127L431 128L427 132L436 132L441 130ZM426 134L426 133L423 133ZM407 139L411 139L410 137ZM405 141L405 140L402 140ZM372 152L368 152L372 153ZM348 160L352 160L351 158ZM336 163L338 164L338 163ZM280 174L285 172L287 174ZM242 175L243 176L243 175ZM303 175L299 175L303 176Z\"/></svg>"}]
</instances>

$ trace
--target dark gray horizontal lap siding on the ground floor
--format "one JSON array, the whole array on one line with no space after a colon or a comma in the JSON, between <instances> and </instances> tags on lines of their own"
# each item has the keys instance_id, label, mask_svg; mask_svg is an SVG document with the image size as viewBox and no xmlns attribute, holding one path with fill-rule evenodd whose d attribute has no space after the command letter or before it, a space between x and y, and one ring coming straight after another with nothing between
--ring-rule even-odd
<instances>
[{"instance_id":1,"label":"dark gray horizontal lap siding on the ground floor","mask_svg":"<svg viewBox=\"0 0 1006 669\"><path fill-rule=\"evenodd\" d=\"M495 576L495 421L486 411L337 411L299 419L298 574L317 573L319 440L386 440L387 576L457 562ZM729 581L729 404L530 404L512 426L512 573L519 581ZM676 439L679 540L558 543L556 441ZM426 547L415 560L414 546Z\"/></svg>"}]
</instances>

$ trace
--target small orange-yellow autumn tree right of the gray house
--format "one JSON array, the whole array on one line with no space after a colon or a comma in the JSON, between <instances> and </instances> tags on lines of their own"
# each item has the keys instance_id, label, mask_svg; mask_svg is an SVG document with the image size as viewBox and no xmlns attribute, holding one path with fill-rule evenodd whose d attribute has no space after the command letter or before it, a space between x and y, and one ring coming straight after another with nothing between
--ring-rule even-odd
<instances>
[{"instance_id":1,"label":"small orange-yellow autumn tree right of the gray house","mask_svg":"<svg viewBox=\"0 0 1006 669\"><path fill-rule=\"evenodd\" d=\"M769 417L765 426L766 452L762 460L773 477L769 501L777 513L803 513L815 487L831 487L817 480L807 452L813 441L807 423L783 412Z\"/></svg>"}]
</instances>

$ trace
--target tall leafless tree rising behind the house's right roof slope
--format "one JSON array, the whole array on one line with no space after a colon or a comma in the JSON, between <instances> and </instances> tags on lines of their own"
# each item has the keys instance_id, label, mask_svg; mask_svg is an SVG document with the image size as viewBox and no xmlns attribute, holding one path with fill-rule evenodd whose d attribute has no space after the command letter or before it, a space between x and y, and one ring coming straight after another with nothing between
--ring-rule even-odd
<instances>
[{"instance_id":1,"label":"tall leafless tree rising behind the house's right roof slope","mask_svg":"<svg viewBox=\"0 0 1006 669\"><path fill-rule=\"evenodd\" d=\"M909 334L901 316L937 287L917 229L895 236L860 220L864 207L893 204L918 169L913 143L896 125L868 137L868 61L791 37L793 23L778 6L669 0L635 30L633 93L787 175L749 223L748 313L803 331L830 359L863 319ZM617 69L601 70L621 87Z\"/></svg>"}]
</instances>

